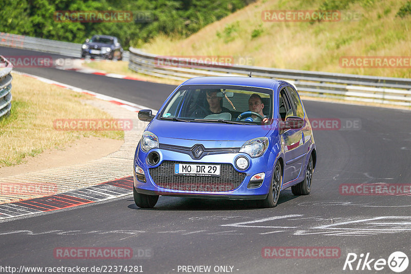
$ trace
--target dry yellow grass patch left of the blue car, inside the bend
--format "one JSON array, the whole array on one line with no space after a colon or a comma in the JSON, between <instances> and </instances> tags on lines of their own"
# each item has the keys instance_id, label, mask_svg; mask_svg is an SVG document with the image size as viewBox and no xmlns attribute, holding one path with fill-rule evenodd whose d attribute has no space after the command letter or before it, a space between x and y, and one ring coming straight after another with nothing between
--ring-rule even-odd
<instances>
[{"instance_id":1,"label":"dry yellow grass patch left of the blue car, inside the bend","mask_svg":"<svg viewBox=\"0 0 411 274\"><path fill-rule=\"evenodd\" d=\"M0 120L0 167L21 164L46 149L63 149L87 136L122 140L123 131L58 131L55 119L110 119L85 103L92 97L13 74L11 114ZM1 170L0 170L1 173Z\"/></svg>"}]
</instances>

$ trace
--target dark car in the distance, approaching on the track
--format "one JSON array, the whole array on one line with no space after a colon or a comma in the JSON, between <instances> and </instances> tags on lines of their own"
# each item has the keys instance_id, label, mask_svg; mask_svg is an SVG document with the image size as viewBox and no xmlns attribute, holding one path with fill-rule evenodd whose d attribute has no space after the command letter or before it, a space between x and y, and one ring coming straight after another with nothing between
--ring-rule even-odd
<instances>
[{"instance_id":1,"label":"dark car in the distance, approaching on the track","mask_svg":"<svg viewBox=\"0 0 411 274\"><path fill-rule=\"evenodd\" d=\"M109 60L122 60L123 48L119 39L109 35L94 35L81 46L81 57L102 57Z\"/></svg>"}]
</instances>

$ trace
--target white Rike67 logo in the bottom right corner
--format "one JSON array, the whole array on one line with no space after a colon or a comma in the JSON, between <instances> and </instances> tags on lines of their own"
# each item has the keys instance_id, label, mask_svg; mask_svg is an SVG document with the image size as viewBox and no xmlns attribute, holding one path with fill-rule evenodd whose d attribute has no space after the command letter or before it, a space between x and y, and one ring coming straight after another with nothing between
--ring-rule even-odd
<instances>
[{"instance_id":1,"label":"white Rike67 logo in the bottom right corner","mask_svg":"<svg viewBox=\"0 0 411 274\"><path fill-rule=\"evenodd\" d=\"M360 256L356 253L348 253L343 270L379 271L384 269L387 265L394 272L403 272L408 267L408 257L401 251L391 253L388 260L382 258L372 259L369 252L367 252L365 256L364 253L361 253Z\"/></svg>"}]
</instances>

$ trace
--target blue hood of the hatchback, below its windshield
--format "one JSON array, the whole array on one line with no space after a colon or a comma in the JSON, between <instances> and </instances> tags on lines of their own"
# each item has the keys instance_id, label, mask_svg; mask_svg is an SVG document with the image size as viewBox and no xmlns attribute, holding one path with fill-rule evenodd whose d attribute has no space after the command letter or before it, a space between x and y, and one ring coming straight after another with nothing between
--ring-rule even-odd
<instances>
[{"instance_id":1,"label":"blue hood of the hatchback, below its windshield","mask_svg":"<svg viewBox=\"0 0 411 274\"><path fill-rule=\"evenodd\" d=\"M197 123L153 120L148 131L161 139L184 139L196 141L248 141L266 136L271 125L233 125L223 123Z\"/></svg>"}]
</instances>

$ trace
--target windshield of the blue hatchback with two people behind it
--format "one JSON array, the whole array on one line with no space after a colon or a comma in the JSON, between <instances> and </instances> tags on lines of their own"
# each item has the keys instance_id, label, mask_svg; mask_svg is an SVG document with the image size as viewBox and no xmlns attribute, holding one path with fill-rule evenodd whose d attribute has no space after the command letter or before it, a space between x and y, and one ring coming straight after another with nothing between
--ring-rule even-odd
<instances>
[{"instance_id":1,"label":"windshield of the blue hatchback with two people behind it","mask_svg":"<svg viewBox=\"0 0 411 274\"><path fill-rule=\"evenodd\" d=\"M272 117L272 90L236 86L182 86L160 119L261 123ZM266 119L265 119L266 118Z\"/></svg>"}]
</instances>

